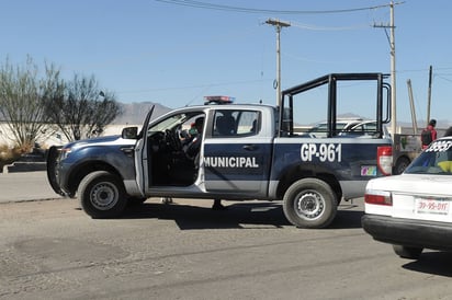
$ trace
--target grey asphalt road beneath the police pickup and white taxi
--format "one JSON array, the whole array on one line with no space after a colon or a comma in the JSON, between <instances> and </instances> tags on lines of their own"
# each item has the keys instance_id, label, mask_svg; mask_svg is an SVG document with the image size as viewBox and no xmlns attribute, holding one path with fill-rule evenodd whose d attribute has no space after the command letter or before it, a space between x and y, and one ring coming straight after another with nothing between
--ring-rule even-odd
<instances>
[{"instance_id":1,"label":"grey asphalt road beneath the police pickup and white taxi","mask_svg":"<svg viewBox=\"0 0 452 300\"><path fill-rule=\"evenodd\" d=\"M1 194L33 198L25 178L0 175ZM265 201L149 199L92 220L43 183L35 198L47 200L0 204L0 299L451 299L452 255L397 257L361 229L362 200L324 230L296 229Z\"/></svg>"}]
</instances>

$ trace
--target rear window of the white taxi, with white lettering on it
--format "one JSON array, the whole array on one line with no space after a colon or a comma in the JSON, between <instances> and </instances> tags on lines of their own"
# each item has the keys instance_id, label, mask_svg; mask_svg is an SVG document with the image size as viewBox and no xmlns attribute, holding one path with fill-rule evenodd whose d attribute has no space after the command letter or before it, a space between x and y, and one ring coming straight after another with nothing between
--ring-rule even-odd
<instances>
[{"instance_id":1,"label":"rear window of the white taxi, with white lettering on it","mask_svg":"<svg viewBox=\"0 0 452 300\"><path fill-rule=\"evenodd\" d=\"M452 140L430 143L405 171L407 174L452 174Z\"/></svg>"}]
</instances>

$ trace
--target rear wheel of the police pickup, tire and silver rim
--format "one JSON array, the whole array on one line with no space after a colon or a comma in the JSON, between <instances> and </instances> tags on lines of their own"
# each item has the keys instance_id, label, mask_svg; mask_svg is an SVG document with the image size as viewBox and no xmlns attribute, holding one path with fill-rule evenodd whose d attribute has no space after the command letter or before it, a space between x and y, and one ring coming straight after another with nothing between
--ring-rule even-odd
<instances>
[{"instance_id":1,"label":"rear wheel of the police pickup, tire and silver rim","mask_svg":"<svg viewBox=\"0 0 452 300\"><path fill-rule=\"evenodd\" d=\"M336 217L338 201L331 187L317 178L294 182L284 194L283 210L298 228L325 228Z\"/></svg>"}]
</instances>

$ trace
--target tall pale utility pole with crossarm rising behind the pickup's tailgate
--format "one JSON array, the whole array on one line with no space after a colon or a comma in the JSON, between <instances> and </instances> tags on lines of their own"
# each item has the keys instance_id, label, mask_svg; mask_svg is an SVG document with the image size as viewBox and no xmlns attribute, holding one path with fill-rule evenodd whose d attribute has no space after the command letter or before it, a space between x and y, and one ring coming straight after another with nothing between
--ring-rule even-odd
<instances>
[{"instance_id":1,"label":"tall pale utility pole with crossarm rising behind the pickup's tailgate","mask_svg":"<svg viewBox=\"0 0 452 300\"><path fill-rule=\"evenodd\" d=\"M402 2L403 3L403 2ZM382 27L382 28L387 28L389 27L391 30L391 36L388 37L389 39L389 47L391 47L391 134L394 135L396 134L396 126L397 126L397 99L396 99L396 67L395 67L395 25L394 25L394 5L395 4L400 4L394 3L394 0L391 0L389 3L389 9L391 9L391 23L389 25L374 25L374 27ZM387 36L387 33L386 33Z\"/></svg>"}]
</instances>

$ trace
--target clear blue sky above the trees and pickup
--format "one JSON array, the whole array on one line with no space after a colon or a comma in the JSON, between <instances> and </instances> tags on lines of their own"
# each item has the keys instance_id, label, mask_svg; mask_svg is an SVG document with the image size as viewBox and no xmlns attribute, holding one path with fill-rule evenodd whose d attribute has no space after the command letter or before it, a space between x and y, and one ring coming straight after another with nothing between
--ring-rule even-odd
<instances>
[{"instance_id":1,"label":"clear blue sky above the trees and pickup","mask_svg":"<svg viewBox=\"0 0 452 300\"><path fill-rule=\"evenodd\" d=\"M54 64L94 76L123 103L170 108L206 95L274 105L281 89L332 72L391 73L389 0L0 0L0 64ZM397 122L452 125L452 1L395 1ZM380 25L380 26L374 26ZM391 81L389 81L391 82ZM357 105L363 105L357 100ZM364 104L365 105L365 104Z\"/></svg>"}]
</instances>

